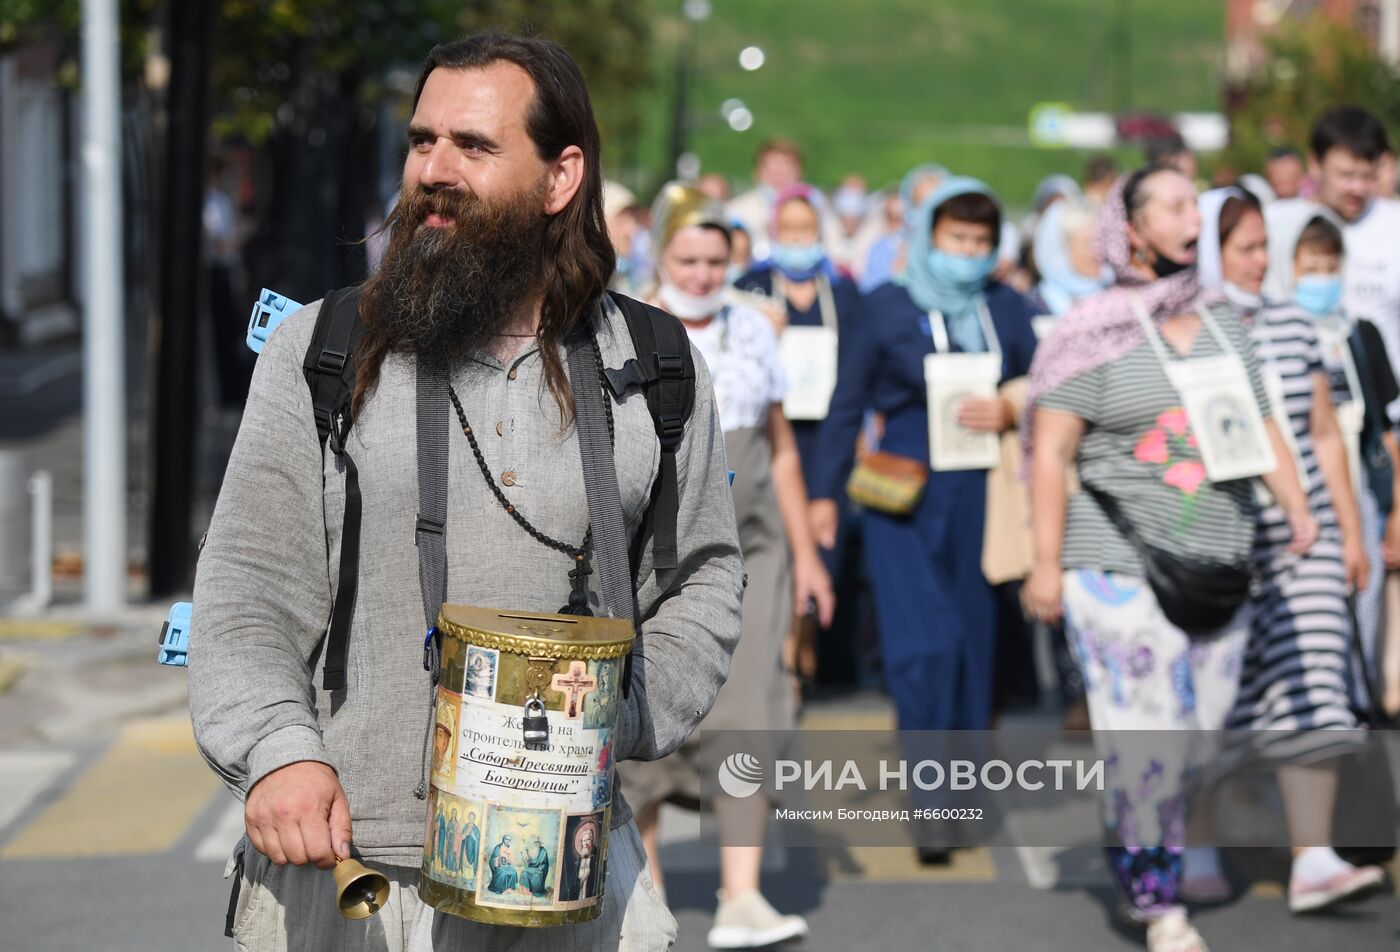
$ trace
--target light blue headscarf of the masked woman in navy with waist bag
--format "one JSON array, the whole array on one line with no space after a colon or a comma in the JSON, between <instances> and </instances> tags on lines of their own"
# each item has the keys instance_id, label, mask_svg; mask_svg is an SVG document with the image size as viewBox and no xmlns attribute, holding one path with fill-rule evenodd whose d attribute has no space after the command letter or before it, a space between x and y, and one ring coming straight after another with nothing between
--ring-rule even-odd
<instances>
[{"instance_id":1,"label":"light blue headscarf of the masked woman in navy with waist bag","mask_svg":"<svg viewBox=\"0 0 1400 952\"><path fill-rule=\"evenodd\" d=\"M997 263L997 237L993 235L993 249L987 255L986 273L951 274L942 267L952 255L934 248L934 213L948 199L959 195L986 195L997 202L995 193L974 178L956 175L945 179L938 190L918 206L904 234L909 260L904 265L903 281L909 297L921 311L938 311L948 325L949 339L965 353L977 354L987 350L981 332L981 307L986 301L987 280ZM1000 202L997 203L1000 207ZM972 262L977 259L962 259Z\"/></svg>"}]
</instances>

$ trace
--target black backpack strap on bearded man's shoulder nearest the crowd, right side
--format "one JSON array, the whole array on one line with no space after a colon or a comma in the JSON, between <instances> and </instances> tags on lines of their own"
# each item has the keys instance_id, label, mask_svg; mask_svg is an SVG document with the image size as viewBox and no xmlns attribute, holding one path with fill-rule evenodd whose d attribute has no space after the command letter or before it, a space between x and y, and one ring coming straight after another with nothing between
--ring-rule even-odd
<instances>
[{"instance_id":1,"label":"black backpack strap on bearded man's shoulder nearest the crowd, right side","mask_svg":"<svg viewBox=\"0 0 1400 952\"><path fill-rule=\"evenodd\" d=\"M685 437L686 423L696 403L696 365L685 325L661 308L610 291L613 302L627 319L636 360L620 370L605 371L608 388L622 399L633 384L647 395L647 409L661 441L661 473L652 487L647 525L651 526L652 560L657 571L672 571L679 564L676 515L680 490L676 480L676 449Z\"/></svg>"}]
</instances>

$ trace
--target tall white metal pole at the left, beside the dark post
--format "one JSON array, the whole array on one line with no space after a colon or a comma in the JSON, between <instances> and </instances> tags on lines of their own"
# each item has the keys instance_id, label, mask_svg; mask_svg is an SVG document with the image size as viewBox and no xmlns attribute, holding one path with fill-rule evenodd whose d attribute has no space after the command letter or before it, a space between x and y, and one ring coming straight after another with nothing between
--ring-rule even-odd
<instances>
[{"instance_id":1,"label":"tall white metal pole at the left, beside the dark post","mask_svg":"<svg viewBox=\"0 0 1400 952\"><path fill-rule=\"evenodd\" d=\"M90 612L126 603L122 80L116 0L83 0L83 542Z\"/></svg>"}]
</instances>

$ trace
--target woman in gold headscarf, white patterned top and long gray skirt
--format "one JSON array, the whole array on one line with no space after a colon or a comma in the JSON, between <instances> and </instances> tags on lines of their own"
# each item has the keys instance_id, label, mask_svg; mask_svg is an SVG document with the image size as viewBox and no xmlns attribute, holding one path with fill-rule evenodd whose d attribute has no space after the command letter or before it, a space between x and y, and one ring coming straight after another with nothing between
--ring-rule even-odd
<instances>
[{"instance_id":1,"label":"woman in gold headscarf, white patterned top and long gray skirt","mask_svg":"<svg viewBox=\"0 0 1400 952\"><path fill-rule=\"evenodd\" d=\"M780 654L794 610L815 602L823 624L833 610L832 582L805 521L806 489L792 427L783 416L787 381L777 335L756 309L728 304L729 223L722 207L693 186L671 182L652 206L657 287L651 301L680 318L692 347L708 368L724 447L734 469L734 514L739 525L748 587L743 630L729 678L710 714L676 753L619 764L623 791L661 885L658 820L662 801L696 805L717 776L732 741L725 731L791 735L795 696ZM769 804L756 795L714 799L721 843L763 843ZM762 846L720 847L720 907L710 944L755 948L806 932L801 916L780 916L759 892Z\"/></svg>"}]
</instances>

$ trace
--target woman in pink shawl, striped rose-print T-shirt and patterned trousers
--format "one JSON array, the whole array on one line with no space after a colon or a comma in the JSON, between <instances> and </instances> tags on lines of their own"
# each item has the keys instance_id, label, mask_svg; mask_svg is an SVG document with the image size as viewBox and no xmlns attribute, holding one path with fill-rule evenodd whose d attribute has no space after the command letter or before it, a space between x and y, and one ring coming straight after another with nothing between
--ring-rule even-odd
<instances>
[{"instance_id":1,"label":"woman in pink shawl, striped rose-print T-shirt and patterned trousers","mask_svg":"<svg viewBox=\"0 0 1400 952\"><path fill-rule=\"evenodd\" d=\"M1222 599L1243 605L1233 617L1228 608L1215 612L1228 620L1189 636L1166 615L1183 617L1183 599L1159 601L1144 553L1154 553L1155 564L1169 559L1247 580L1254 483L1211 479L1205 463L1221 458L1222 445L1250 451L1260 472L1266 447L1275 461L1287 459L1278 427L1261 421L1268 399L1243 325L1228 307L1200 305L1200 228L1196 188L1180 172L1148 165L1120 182L1096 232L1116 284L1071 308L1042 344L1025 426L1035 529L1026 609L1043 620L1063 615L1078 648L1095 743L1112 764L1109 867L1133 917L1148 923L1154 952L1205 949L1179 892L1190 738L1225 722L1249 616L1246 582ZM1238 407L1231 419L1242 431L1254 434L1250 445L1224 444L1221 433L1240 430L1211 428L1211 417L1187 412L1197 403L1177 389L1186 385L1183 357L1229 365L1236 382L1219 396ZM1070 465L1085 490L1072 498ZM1275 462L1264 482L1288 512L1292 547L1306 550L1317 528L1296 473ZM1127 735L1119 732L1127 731L1155 734L1123 743Z\"/></svg>"}]
</instances>

